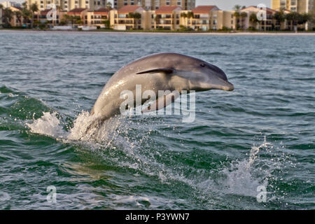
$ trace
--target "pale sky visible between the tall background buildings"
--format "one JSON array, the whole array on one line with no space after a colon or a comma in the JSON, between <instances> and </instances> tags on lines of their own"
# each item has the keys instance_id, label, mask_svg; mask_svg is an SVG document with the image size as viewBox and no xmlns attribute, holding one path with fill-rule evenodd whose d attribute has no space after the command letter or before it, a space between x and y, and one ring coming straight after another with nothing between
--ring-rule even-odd
<instances>
[{"instance_id":1,"label":"pale sky visible between the tall background buildings","mask_svg":"<svg viewBox=\"0 0 315 224\"><path fill-rule=\"evenodd\" d=\"M0 0L0 3L5 0ZM23 0L12 0L22 3ZM113 0L109 0L113 3ZM216 5L222 10L232 10L233 6L257 6L259 3L264 3L267 7L270 7L271 0L196 0L196 6L201 5Z\"/></svg>"}]
</instances>

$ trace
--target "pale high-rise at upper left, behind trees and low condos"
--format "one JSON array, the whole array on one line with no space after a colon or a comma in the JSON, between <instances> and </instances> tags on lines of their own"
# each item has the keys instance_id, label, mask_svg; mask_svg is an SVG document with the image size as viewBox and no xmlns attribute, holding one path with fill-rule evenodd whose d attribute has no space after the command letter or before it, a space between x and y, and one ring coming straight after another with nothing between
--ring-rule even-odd
<instances>
[{"instance_id":1,"label":"pale high-rise at upper left, behind trees and low condos","mask_svg":"<svg viewBox=\"0 0 315 224\"><path fill-rule=\"evenodd\" d=\"M106 6L107 0L27 0L27 5L37 3L39 10L47 9L47 6L54 3L62 10L72 10L73 8L90 8L90 10L97 10Z\"/></svg>"}]
</instances>

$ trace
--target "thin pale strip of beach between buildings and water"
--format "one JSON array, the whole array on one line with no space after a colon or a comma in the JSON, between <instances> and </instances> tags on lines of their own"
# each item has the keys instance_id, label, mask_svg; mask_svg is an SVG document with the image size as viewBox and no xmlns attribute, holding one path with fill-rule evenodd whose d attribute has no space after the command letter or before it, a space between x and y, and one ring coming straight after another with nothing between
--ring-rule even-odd
<instances>
[{"instance_id":1,"label":"thin pale strip of beach between buildings and water","mask_svg":"<svg viewBox=\"0 0 315 224\"><path fill-rule=\"evenodd\" d=\"M197 35L197 36L315 36L314 31L309 32L180 32L180 31L77 31L77 30L31 30L31 29L0 29L1 32L29 32L55 34L139 34L139 35Z\"/></svg>"}]
</instances>

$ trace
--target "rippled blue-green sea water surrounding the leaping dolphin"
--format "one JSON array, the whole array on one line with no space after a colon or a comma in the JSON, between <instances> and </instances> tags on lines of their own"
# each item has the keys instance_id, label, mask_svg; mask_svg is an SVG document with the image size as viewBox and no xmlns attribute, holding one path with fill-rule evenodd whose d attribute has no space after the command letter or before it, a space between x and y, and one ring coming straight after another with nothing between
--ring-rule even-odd
<instances>
[{"instance_id":1,"label":"rippled blue-green sea water surrounding the leaping dolphin","mask_svg":"<svg viewBox=\"0 0 315 224\"><path fill-rule=\"evenodd\" d=\"M0 43L0 209L315 209L315 36L0 31ZM168 51L216 64L235 90L197 92L193 123L118 116L80 139L113 73Z\"/></svg>"}]
</instances>

